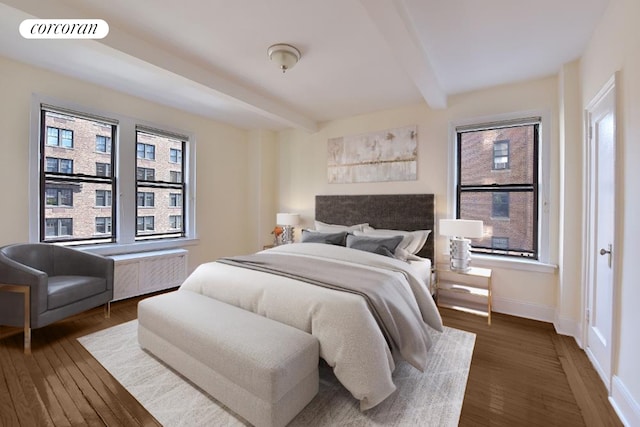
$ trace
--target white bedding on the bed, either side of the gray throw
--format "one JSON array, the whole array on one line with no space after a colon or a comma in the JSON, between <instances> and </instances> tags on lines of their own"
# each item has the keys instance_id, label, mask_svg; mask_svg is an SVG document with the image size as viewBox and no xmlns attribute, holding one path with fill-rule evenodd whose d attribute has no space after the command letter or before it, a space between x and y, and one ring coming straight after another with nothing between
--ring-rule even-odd
<instances>
[{"instance_id":1,"label":"white bedding on the bed, either side of the gray throw","mask_svg":"<svg viewBox=\"0 0 640 427\"><path fill-rule=\"evenodd\" d=\"M383 274L402 271L406 292L414 295L424 324L442 330L442 320L427 284L409 264L393 258L345 247L294 243L269 251L366 264ZM384 273L387 271L386 273ZM393 273L397 274L397 273ZM393 356L364 298L291 278L210 262L199 266L182 288L216 298L291 325L315 336L320 356L338 380L369 409L395 390Z\"/></svg>"}]
</instances>

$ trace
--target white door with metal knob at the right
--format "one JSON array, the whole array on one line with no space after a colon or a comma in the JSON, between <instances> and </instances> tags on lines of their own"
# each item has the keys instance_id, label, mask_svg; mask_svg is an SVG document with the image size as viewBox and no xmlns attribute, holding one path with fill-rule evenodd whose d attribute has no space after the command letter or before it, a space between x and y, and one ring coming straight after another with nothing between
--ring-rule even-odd
<instances>
[{"instance_id":1,"label":"white door with metal knob at the right","mask_svg":"<svg viewBox=\"0 0 640 427\"><path fill-rule=\"evenodd\" d=\"M610 388L615 260L615 80L587 109L588 244L586 352Z\"/></svg>"}]
</instances>

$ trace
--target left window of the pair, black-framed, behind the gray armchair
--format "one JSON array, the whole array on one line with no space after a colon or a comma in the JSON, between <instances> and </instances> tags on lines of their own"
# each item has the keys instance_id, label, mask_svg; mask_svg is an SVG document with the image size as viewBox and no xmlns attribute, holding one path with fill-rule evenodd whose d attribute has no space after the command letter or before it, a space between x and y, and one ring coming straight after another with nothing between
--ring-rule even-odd
<instances>
[{"instance_id":1,"label":"left window of the pair, black-framed, behind the gray armchair","mask_svg":"<svg viewBox=\"0 0 640 427\"><path fill-rule=\"evenodd\" d=\"M92 141L98 132L110 135L111 140L116 132L115 122L42 105L40 126L39 240L114 241L111 231L101 236L94 232L95 206L108 208L109 213L101 216L113 217L115 213L111 199L115 179L110 173L114 159L97 154ZM61 148L73 150L63 152ZM98 167L94 169L98 155L104 158L102 164L109 165L108 174L99 173Z\"/></svg>"}]
</instances>

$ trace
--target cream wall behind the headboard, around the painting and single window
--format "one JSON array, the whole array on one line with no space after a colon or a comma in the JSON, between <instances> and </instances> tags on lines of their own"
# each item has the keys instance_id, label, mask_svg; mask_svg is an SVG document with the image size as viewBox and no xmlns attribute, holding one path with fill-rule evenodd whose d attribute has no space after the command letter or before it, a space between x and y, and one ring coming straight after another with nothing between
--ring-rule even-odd
<instances>
[{"instance_id":1,"label":"cream wall behind the headboard, around the painting and single window","mask_svg":"<svg viewBox=\"0 0 640 427\"><path fill-rule=\"evenodd\" d=\"M431 110L418 104L389 111L324 123L314 134L298 130L280 132L280 208L300 212L303 226L313 225L316 194L434 193L438 217L447 217L449 206L449 144L451 124L467 119L514 112L547 111L550 123L550 176L546 209L551 213L551 262L558 262L558 83L545 78L521 84L452 96L446 110ZM418 126L418 180L405 182L329 184L327 181L327 140L400 127ZM438 254L446 253L438 238ZM495 268L494 307L496 311L553 321L557 298L557 275L512 268ZM571 313L572 314L572 313Z\"/></svg>"}]
</instances>

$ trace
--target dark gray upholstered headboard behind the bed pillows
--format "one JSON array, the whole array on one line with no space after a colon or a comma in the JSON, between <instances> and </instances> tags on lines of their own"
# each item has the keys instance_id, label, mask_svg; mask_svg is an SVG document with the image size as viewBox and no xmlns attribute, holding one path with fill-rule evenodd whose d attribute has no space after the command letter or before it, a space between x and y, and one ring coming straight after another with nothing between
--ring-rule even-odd
<instances>
[{"instance_id":1,"label":"dark gray upholstered headboard behind the bed pillows","mask_svg":"<svg viewBox=\"0 0 640 427\"><path fill-rule=\"evenodd\" d=\"M418 255L435 262L433 194L316 196L316 220L343 225L367 222L373 228L390 230L431 230Z\"/></svg>"}]
</instances>

